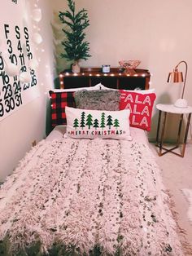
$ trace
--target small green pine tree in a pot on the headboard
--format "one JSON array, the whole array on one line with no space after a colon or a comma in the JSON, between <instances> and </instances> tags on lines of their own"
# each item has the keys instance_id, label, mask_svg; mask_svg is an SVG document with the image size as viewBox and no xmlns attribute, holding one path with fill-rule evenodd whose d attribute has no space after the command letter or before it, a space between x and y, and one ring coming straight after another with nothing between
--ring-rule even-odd
<instances>
[{"instance_id":1,"label":"small green pine tree in a pot on the headboard","mask_svg":"<svg viewBox=\"0 0 192 256\"><path fill-rule=\"evenodd\" d=\"M85 41L85 29L89 26L87 10L82 9L76 13L75 2L68 0L69 11L59 11L59 19L65 27L64 40L61 42L64 47L62 58L73 61L72 72L79 73L79 60L88 60L89 42Z\"/></svg>"}]
</instances>

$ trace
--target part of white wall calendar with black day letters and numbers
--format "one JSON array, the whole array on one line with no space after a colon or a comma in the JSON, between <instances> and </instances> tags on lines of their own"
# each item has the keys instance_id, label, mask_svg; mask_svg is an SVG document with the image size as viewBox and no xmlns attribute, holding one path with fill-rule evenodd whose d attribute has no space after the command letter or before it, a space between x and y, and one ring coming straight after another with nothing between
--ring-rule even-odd
<instances>
[{"instance_id":1,"label":"part of white wall calendar with black day letters and numbers","mask_svg":"<svg viewBox=\"0 0 192 256\"><path fill-rule=\"evenodd\" d=\"M28 28L1 24L1 41L0 121L39 95L36 71L28 67L29 61L33 60ZM13 73L15 68L17 74ZM30 82L24 81L26 75Z\"/></svg>"}]
</instances>

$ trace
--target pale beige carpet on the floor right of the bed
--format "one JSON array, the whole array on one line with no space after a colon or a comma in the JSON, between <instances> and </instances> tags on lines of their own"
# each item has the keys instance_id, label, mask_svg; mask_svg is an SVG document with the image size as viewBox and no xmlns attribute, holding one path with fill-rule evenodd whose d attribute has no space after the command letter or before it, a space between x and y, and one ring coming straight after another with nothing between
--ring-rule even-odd
<instances>
[{"instance_id":1,"label":"pale beige carpet on the floor right of the bed","mask_svg":"<svg viewBox=\"0 0 192 256\"><path fill-rule=\"evenodd\" d=\"M158 148L152 143L151 149L156 156L156 162L162 170L164 185L172 195L172 200L174 201L173 210L177 212L177 223L181 227L188 243L192 246L192 221L190 221L189 216L191 213L191 194L189 192L192 192L192 143L190 142L186 145L185 157L183 158L177 157L172 153L159 157ZM192 254L188 252L185 255Z\"/></svg>"}]
</instances>

